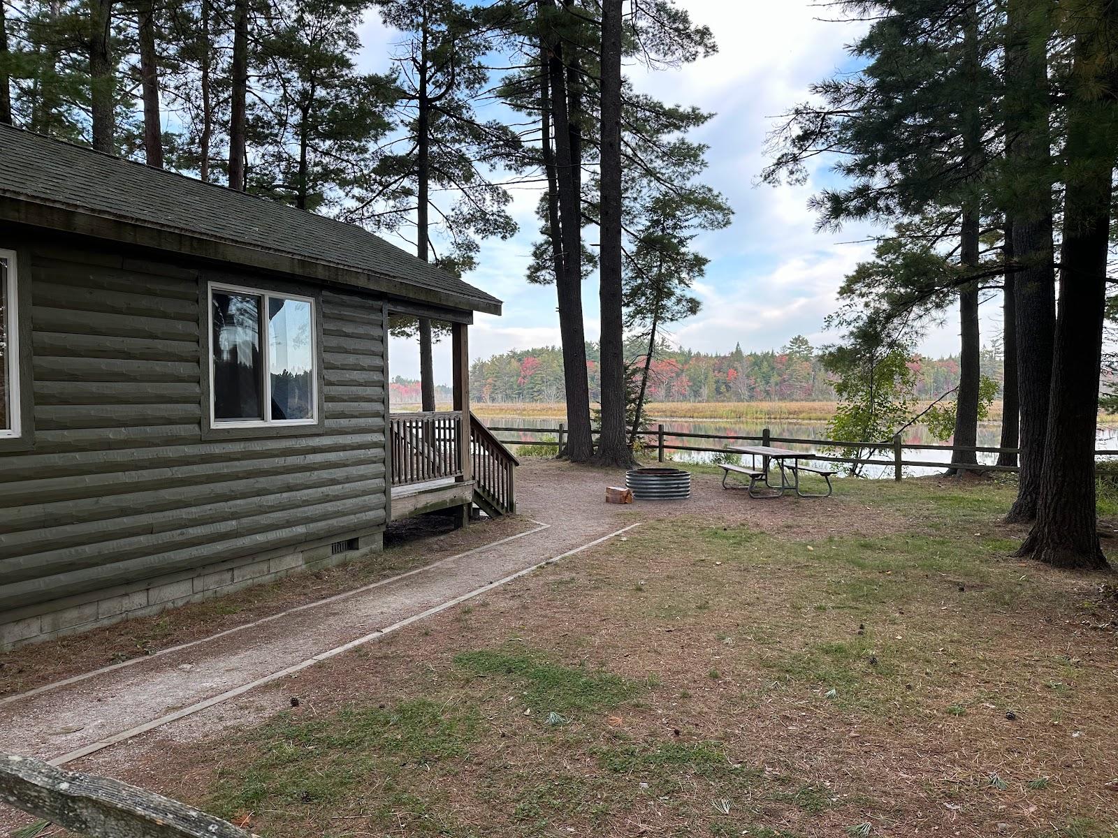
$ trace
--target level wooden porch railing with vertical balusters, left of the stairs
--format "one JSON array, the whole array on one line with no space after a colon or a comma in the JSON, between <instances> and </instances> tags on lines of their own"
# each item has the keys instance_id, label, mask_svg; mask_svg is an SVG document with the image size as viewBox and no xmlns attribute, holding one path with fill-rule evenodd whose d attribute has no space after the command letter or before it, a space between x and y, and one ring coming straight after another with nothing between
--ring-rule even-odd
<instances>
[{"instance_id":1,"label":"level wooden porch railing with vertical balusters, left of the stairs","mask_svg":"<svg viewBox=\"0 0 1118 838\"><path fill-rule=\"evenodd\" d=\"M462 474L462 411L392 413L392 485L440 480Z\"/></svg>"}]
</instances>

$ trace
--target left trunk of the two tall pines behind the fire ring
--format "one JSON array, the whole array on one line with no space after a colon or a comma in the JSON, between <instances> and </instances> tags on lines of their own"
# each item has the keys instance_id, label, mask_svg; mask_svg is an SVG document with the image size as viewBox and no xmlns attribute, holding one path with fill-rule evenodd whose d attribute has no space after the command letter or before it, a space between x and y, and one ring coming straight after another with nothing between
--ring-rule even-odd
<instances>
[{"instance_id":1,"label":"left trunk of the two tall pines behind the fire ring","mask_svg":"<svg viewBox=\"0 0 1118 838\"><path fill-rule=\"evenodd\" d=\"M556 277L559 333L562 340L563 382L567 390L567 457L586 463L594 455L590 434L590 392L586 375L586 333L582 326L581 196L577 171L578 136L567 96L567 75L561 42L550 44L548 77L555 122L556 173L562 229L563 272Z\"/></svg>"}]
</instances>

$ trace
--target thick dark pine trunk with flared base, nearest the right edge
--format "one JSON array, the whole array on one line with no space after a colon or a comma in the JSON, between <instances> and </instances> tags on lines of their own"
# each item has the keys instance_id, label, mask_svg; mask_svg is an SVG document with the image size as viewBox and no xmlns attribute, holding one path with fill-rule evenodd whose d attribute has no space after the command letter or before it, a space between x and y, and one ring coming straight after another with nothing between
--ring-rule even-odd
<instances>
[{"instance_id":1,"label":"thick dark pine trunk with flared base, nearest the right edge","mask_svg":"<svg viewBox=\"0 0 1118 838\"><path fill-rule=\"evenodd\" d=\"M1052 390L1044 437L1044 480L1036 521L1017 555L1059 568L1107 566L1099 544L1095 497L1102 321L1106 313L1111 177L1118 156L1115 123L1118 32L1114 3L1076 37L1068 101L1068 179L1060 249L1060 305L1052 356Z\"/></svg>"}]
</instances>

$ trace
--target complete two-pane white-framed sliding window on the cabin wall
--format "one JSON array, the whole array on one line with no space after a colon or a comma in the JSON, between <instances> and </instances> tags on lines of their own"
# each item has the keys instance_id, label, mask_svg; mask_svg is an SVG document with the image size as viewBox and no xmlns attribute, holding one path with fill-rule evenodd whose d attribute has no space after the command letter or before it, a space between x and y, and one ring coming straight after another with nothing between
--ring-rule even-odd
<instances>
[{"instance_id":1,"label":"complete two-pane white-framed sliding window on the cabin wall","mask_svg":"<svg viewBox=\"0 0 1118 838\"><path fill-rule=\"evenodd\" d=\"M214 426L315 421L314 301L210 285Z\"/></svg>"}]
</instances>

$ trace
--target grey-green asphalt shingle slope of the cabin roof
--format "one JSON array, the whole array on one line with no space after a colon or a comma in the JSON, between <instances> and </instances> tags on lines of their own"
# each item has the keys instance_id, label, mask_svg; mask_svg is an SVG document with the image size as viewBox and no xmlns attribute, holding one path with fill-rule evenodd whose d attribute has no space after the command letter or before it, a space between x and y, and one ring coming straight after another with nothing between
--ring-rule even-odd
<instances>
[{"instance_id":1,"label":"grey-green asphalt shingle slope of the cabin roof","mask_svg":"<svg viewBox=\"0 0 1118 838\"><path fill-rule=\"evenodd\" d=\"M4 125L0 194L501 304L356 225Z\"/></svg>"}]
</instances>

